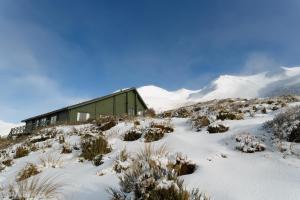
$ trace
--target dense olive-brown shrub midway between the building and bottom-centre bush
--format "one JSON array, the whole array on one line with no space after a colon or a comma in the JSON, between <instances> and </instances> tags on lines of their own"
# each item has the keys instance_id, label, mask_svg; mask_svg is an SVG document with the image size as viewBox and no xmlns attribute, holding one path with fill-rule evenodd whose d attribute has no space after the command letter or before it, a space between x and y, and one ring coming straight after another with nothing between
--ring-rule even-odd
<instances>
[{"instance_id":1,"label":"dense olive-brown shrub midway between the building and bottom-centre bush","mask_svg":"<svg viewBox=\"0 0 300 200\"><path fill-rule=\"evenodd\" d=\"M111 151L107 140L102 136L82 139L81 149L81 156L90 161L92 161L95 156L107 154Z\"/></svg>"}]
</instances>

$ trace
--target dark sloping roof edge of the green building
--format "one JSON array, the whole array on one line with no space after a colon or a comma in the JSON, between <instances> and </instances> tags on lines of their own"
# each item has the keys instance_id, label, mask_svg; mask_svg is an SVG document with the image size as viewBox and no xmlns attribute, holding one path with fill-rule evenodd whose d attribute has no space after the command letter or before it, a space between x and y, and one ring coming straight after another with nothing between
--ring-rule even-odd
<instances>
[{"instance_id":1,"label":"dark sloping roof edge of the green building","mask_svg":"<svg viewBox=\"0 0 300 200\"><path fill-rule=\"evenodd\" d=\"M21 122L26 122L26 121L29 121L29 120L32 120L32 119L35 119L35 118L41 118L41 117L45 117L45 116L48 116L48 115L51 115L51 114L54 114L54 113L58 113L58 112L70 110L70 109L73 109L73 108L77 108L79 106L84 106L84 105L87 105L87 104L90 104L90 103L94 103L94 102L97 102L97 101L100 101L100 100L103 100L103 99L107 99L107 98L110 98L110 97L113 97L113 96L116 96L116 95L119 95L119 94L122 94L122 93L125 93L125 92L129 92L129 91L132 91L132 90L134 90L137 93L138 98L141 100L141 102L144 104L144 106L146 108L148 108L147 105L146 105L146 103L144 102L143 98L140 96L140 94L136 90L136 88L133 87L133 88L128 88L128 89L120 90L118 92L115 92L115 93L112 93L112 94L109 94L109 95L106 95L106 96L98 97L98 98L91 99L91 100L88 100L88 101L85 101L85 102L81 102L81 103L78 103L78 104L74 104L74 105L71 105L71 106L60 108L58 110L47 112L47 113L44 113L44 114L41 114L41 115L30 117L30 118L22 120Z\"/></svg>"}]
</instances>

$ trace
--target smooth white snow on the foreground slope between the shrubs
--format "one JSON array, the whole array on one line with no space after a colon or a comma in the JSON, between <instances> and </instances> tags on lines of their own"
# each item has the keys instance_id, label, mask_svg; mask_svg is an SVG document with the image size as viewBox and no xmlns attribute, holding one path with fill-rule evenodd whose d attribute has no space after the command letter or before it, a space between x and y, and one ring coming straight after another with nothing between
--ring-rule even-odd
<instances>
[{"instance_id":1,"label":"smooth white snow on the foreground slope between the shrubs","mask_svg":"<svg viewBox=\"0 0 300 200\"><path fill-rule=\"evenodd\" d=\"M293 104L295 105L295 103ZM199 187L215 200L298 200L300 197L300 159L294 156L283 156L271 143L270 133L262 129L264 122L271 120L275 113L257 114L244 120L225 120L230 127L228 132L209 134L205 129L196 132L191 128L188 119L172 118L175 131L166 134L161 140L153 142L155 146L166 144L170 152L181 152L194 161L197 170L190 175L182 176L188 188ZM156 119L160 121L160 119ZM163 120L163 119L161 119ZM152 119L140 119L141 126L146 126ZM81 125L84 127L88 125ZM76 128L80 128L76 126ZM0 183L13 182L17 173L27 162L39 164L39 158L47 154L60 157L63 161L58 168L42 168L43 176L57 176L65 187L66 199L98 200L109 199L106 189L118 188L118 176L112 170L112 163L118 153L126 147L130 154L143 148L142 139L132 142L122 140L122 134L133 127L133 123L119 123L105 132L112 145L112 152L104 157L104 164L96 167L89 161L78 162L80 151L71 154L60 154L62 146L57 140L51 148L31 152L28 156L14 159L12 167L0 172ZM58 129L72 132L72 126ZM266 150L256 153L242 153L235 149L235 137L240 134L264 138ZM80 137L69 135L66 142L70 145L80 144ZM99 176L99 172L104 175Z\"/></svg>"}]
</instances>

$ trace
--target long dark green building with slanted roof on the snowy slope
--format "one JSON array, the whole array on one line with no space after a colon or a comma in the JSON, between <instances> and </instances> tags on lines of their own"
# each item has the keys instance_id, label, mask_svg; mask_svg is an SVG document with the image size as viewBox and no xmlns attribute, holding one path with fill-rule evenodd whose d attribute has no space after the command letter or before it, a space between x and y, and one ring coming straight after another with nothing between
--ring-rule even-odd
<instances>
[{"instance_id":1,"label":"long dark green building with slanted roof on the snowy slope","mask_svg":"<svg viewBox=\"0 0 300 200\"><path fill-rule=\"evenodd\" d=\"M135 88L120 90L113 94L54 110L22 120L26 129L55 125L76 124L101 116L139 116L148 109Z\"/></svg>"}]
</instances>

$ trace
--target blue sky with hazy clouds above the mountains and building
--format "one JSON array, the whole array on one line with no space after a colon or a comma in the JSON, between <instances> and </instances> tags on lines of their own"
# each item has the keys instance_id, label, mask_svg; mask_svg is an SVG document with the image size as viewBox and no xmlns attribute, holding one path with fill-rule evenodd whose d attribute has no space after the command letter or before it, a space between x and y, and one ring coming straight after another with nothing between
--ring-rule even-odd
<instances>
[{"instance_id":1,"label":"blue sky with hazy clouds above the mountains and building","mask_svg":"<svg viewBox=\"0 0 300 200\"><path fill-rule=\"evenodd\" d=\"M0 119L299 64L297 0L0 1Z\"/></svg>"}]
</instances>

